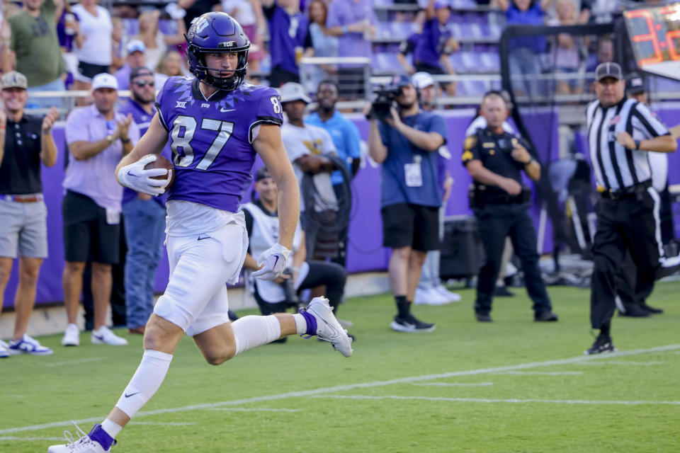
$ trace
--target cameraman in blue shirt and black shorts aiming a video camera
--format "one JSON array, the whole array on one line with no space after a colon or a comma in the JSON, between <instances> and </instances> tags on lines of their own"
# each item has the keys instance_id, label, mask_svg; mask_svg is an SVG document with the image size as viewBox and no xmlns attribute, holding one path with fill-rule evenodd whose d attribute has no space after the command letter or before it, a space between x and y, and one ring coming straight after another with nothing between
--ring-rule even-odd
<instances>
[{"instance_id":1,"label":"cameraman in blue shirt and black shorts aiming a video camera","mask_svg":"<svg viewBox=\"0 0 680 453\"><path fill-rule=\"evenodd\" d=\"M416 319L411 303L427 252L440 247L437 150L446 143L446 124L441 116L420 110L416 88L406 75L395 76L365 113L370 120L368 152L382 164L382 245L392 248L390 287L397 316L390 327L431 332L435 325Z\"/></svg>"}]
</instances>

